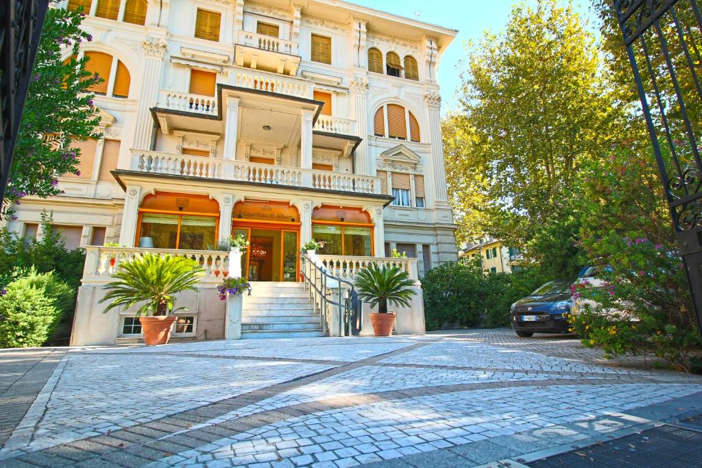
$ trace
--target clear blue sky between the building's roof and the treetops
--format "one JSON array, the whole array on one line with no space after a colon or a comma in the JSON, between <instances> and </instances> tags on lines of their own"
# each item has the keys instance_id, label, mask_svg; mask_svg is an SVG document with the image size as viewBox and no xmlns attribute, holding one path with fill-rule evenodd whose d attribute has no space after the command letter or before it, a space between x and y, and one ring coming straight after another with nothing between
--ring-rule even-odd
<instances>
[{"instance_id":1,"label":"clear blue sky between the building's roof and the treetops","mask_svg":"<svg viewBox=\"0 0 702 468\"><path fill-rule=\"evenodd\" d=\"M456 109L456 100L453 95L461 84L458 75L462 69L456 67L458 62L465 58L463 43L468 40L477 43L487 29L493 32L502 31L510 15L512 5L519 3L518 0L350 1L377 10L458 29L458 36L453 39L449 49L442 55L442 61L439 65L438 78L442 93L442 113ZM565 4L567 0L561 1ZM527 3L533 3L533 0L527 0ZM592 13L590 4L590 0L573 0L575 10L589 21L590 29L594 32L597 29L597 18Z\"/></svg>"}]
</instances>

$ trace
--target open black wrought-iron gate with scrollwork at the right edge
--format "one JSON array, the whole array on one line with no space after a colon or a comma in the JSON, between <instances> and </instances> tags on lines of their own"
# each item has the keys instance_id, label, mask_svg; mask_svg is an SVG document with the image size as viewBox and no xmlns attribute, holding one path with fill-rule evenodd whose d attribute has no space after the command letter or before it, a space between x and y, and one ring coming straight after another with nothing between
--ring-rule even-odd
<instances>
[{"instance_id":1,"label":"open black wrought-iron gate with scrollwork at the right edge","mask_svg":"<svg viewBox=\"0 0 702 468\"><path fill-rule=\"evenodd\" d=\"M702 14L697 0L614 0L702 333Z\"/></svg>"}]
</instances>

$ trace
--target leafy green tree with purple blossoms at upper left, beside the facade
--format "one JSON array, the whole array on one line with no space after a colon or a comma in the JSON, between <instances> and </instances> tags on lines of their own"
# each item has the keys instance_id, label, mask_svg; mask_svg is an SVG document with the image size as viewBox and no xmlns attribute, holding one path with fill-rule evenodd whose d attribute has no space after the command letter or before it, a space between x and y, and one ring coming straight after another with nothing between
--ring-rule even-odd
<instances>
[{"instance_id":1,"label":"leafy green tree with purple blossoms at upper left, beside the facade","mask_svg":"<svg viewBox=\"0 0 702 468\"><path fill-rule=\"evenodd\" d=\"M12 214L8 212L10 201L27 195L46 198L58 194L58 176L79 173L81 154L74 142L101 136L95 132L100 116L88 88L102 77L85 69L88 58L77 58L81 43L93 40L80 28L83 18L80 10L50 8L46 13L15 146L4 215Z\"/></svg>"}]
</instances>

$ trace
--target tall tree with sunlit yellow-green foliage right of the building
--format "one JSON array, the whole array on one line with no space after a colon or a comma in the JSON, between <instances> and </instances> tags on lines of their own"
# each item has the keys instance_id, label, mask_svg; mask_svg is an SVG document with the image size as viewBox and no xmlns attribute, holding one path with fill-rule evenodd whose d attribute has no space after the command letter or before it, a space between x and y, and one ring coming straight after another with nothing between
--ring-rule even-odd
<instances>
[{"instance_id":1,"label":"tall tree with sunlit yellow-green foliage right of the building","mask_svg":"<svg viewBox=\"0 0 702 468\"><path fill-rule=\"evenodd\" d=\"M484 35L470 51L461 102L463 118L448 123L459 129L447 132L468 135L460 171L484 181L486 229L515 245L572 209L581 162L604 157L621 138L623 113L594 38L556 0L519 4L503 34ZM453 199L476 196L474 185L449 188Z\"/></svg>"}]
</instances>

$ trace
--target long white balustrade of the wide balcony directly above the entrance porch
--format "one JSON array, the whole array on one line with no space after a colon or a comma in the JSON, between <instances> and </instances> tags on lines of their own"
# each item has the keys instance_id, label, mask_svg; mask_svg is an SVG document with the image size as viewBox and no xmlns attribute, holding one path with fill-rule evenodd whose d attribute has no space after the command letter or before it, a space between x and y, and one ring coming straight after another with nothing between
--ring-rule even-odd
<instances>
[{"instance_id":1,"label":"long white balustrade of the wide balcony directly above the entrance porch","mask_svg":"<svg viewBox=\"0 0 702 468\"><path fill-rule=\"evenodd\" d=\"M355 194L380 194L380 178L315 169L272 166L232 159L132 150L131 170L149 174L185 175L288 187L310 187Z\"/></svg>"}]
</instances>

